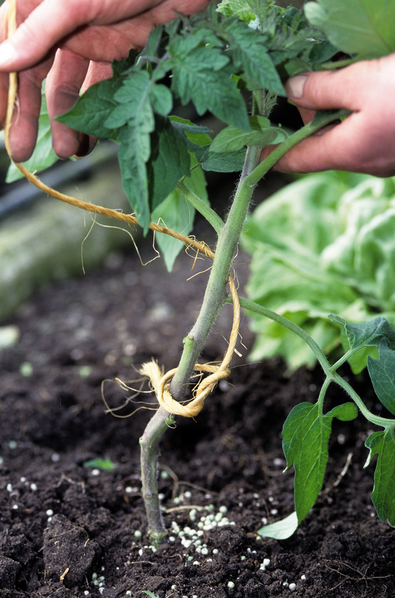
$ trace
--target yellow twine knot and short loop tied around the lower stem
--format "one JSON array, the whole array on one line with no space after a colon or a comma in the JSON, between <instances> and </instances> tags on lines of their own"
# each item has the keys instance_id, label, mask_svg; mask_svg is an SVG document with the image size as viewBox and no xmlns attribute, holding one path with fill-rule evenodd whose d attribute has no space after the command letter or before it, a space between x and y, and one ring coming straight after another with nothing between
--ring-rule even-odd
<instances>
[{"instance_id":1,"label":"yellow twine knot and short loop tied around the lower stem","mask_svg":"<svg viewBox=\"0 0 395 598\"><path fill-rule=\"evenodd\" d=\"M169 370L162 375L157 362L148 361L140 368L140 374L146 376L151 382L152 388L157 395L158 403L165 411L183 417L195 417L203 408L204 399L210 394L220 380L224 380L230 374L229 364L236 346L238 328L240 326L240 301L236 291L234 280L231 276L228 279L229 289L233 301L233 324L229 337L228 349L220 365L195 364L194 371L207 372L210 375L201 380L194 389L194 398L187 404L180 403L173 399L169 391L169 381L173 378L177 368Z\"/></svg>"}]
</instances>

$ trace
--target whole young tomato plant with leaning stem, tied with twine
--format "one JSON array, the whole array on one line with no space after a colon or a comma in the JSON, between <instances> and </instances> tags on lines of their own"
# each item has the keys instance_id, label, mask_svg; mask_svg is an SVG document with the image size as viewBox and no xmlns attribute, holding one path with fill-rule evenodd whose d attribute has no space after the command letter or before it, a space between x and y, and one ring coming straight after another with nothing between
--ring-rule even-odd
<instances>
[{"instance_id":1,"label":"whole young tomato plant with leaning stem, tied with twine","mask_svg":"<svg viewBox=\"0 0 395 598\"><path fill-rule=\"evenodd\" d=\"M161 405L140 438L142 492L148 531L154 542L166 537L157 490L161 437L174 422L174 414L196 416L215 383L228 376L240 304L301 338L324 371L316 404L296 405L284 424L287 466L293 464L295 468L295 514L286 522L259 530L259 533L286 537L301 523L323 484L333 418L352 420L358 410L372 425L383 428L370 434L366 441L368 462L378 454L372 499L379 518L382 521L388 518L395 524L395 419L370 413L337 372L357 352L375 347L375 358L368 358L369 374L379 400L395 415L395 331L382 316L357 324L348 323L339 313L330 316L330 320L341 327L348 342L345 354L330 364L316 341L295 322L256 301L238 298L229 276L258 182L288 149L324 125L348 115L345 111L319 112L311 123L287 135L270 122L276 96L285 94L284 81L298 72L341 68L354 60L394 50L395 29L389 24L391 14L387 14L387 20L381 20L388 4L393 8L394 3L387 0L375 3L320 0L317 4L308 2L304 14L295 8L279 8L267 0L223 0L218 8L212 5L204 13L191 18L180 16L153 30L140 53L131 52L128 59L115 62L112 78L88 89L74 108L59 118L88 135L118 142L123 187L144 233L155 228L174 237L169 222L183 231L190 227L191 215L198 210L218 234L215 254L204 245L198 245L199 251L212 258L213 263L200 313L183 339L178 367L164 376L152 364L142 368ZM360 26L366 40L360 32L358 36L353 35L356 13L362 6ZM338 11L341 11L341 20ZM385 43L380 45L378 39L381 38ZM336 62L333 57L338 51L348 53L349 57ZM175 102L182 105L192 102L198 115L210 111L225 127L212 140L211 132L205 127L171 115ZM42 125L45 126L44 121ZM260 161L261 149L268 144L279 145L268 158ZM203 171L210 170L241 171L226 221L207 203ZM188 202L188 210L181 209L184 202ZM94 210L91 204L85 208ZM167 227L153 225L154 217L162 218ZM333 228L338 226L336 218L333 212ZM319 233L316 237L318 239ZM192 240L186 242L192 243ZM161 249L170 267L177 247L172 242L164 243ZM261 271L262 279L265 275L265 271ZM312 271L312 278L315 277ZM314 293L319 294L325 288L319 273L317 281ZM227 283L230 294L226 292ZM299 296L297 285L292 293L296 303L304 300L303 295ZM336 300L336 292L332 297L335 311L344 315L338 306L344 306L347 301L350 306L353 304L354 289L345 283L341 300ZM201 349L224 303L234 306L232 343L218 367L198 364ZM206 371L209 376L198 385L196 396L185 406L181 402L194 371ZM324 399L332 383L341 386L351 401L326 413Z\"/></svg>"}]
</instances>

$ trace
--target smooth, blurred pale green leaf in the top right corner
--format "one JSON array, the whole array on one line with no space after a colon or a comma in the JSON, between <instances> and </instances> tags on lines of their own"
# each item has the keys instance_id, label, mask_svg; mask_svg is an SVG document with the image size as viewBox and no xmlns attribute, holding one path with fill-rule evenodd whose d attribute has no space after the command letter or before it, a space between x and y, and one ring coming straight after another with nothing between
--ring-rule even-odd
<instances>
[{"instance_id":1,"label":"smooth, blurred pale green leaf in the top right corner","mask_svg":"<svg viewBox=\"0 0 395 598\"><path fill-rule=\"evenodd\" d=\"M395 51L395 11L388 0L318 0L307 2L305 15L329 41L359 60Z\"/></svg>"}]
</instances>

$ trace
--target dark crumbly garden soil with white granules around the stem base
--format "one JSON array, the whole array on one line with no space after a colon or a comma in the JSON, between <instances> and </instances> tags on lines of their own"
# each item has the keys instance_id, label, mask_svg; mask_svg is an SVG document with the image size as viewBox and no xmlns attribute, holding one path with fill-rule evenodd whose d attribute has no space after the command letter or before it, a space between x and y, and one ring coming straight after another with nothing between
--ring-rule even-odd
<instances>
[{"instance_id":1,"label":"dark crumbly garden soil with white granules around the stem base","mask_svg":"<svg viewBox=\"0 0 395 598\"><path fill-rule=\"evenodd\" d=\"M287 377L279 361L243 365L236 356L196 421L169 429L159 484L170 537L156 552L149 547L139 437L150 411L105 413L100 385L138 379L134 368L152 357L177 364L207 277L186 282L190 269L186 255L172 274L161 260L140 266L134 251L112 255L102 269L42 290L4 322L21 336L0 353L0 598L142 598L143 590L160 598L395 597L395 532L370 502L362 417L334 420L323 491L295 535L256 536L262 521L293 511L281 427L293 405L317 398L321 380L319 370ZM241 279L246 270L238 266ZM202 359L221 358L230 321L225 306ZM246 322L243 342L252 343ZM374 406L368 382L357 385ZM113 408L132 394L105 384ZM333 389L327 408L343 400ZM117 467L84 466L97 458ZM189 545L188 529L182 541L177 526L199 530L198 541Z\"/></svg>"}]
</instances>

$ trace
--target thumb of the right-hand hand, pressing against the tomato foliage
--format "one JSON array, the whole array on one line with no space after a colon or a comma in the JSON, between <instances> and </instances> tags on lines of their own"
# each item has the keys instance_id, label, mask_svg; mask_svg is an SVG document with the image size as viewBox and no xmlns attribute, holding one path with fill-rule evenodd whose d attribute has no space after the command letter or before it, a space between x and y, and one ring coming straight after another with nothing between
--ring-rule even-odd
<instances>
[{"instance_id":1,"label":"thumb of the right-hand hand, pressing against the tomato foliage","mask_svg":"<svg viewBox=\"0 0 395 598\"><path fill-rule=\"evenodd\" d=\"M285 84L287 96L298 107L310 110L360 108L361 82L366 63L356 63L339 71L317 71L291 77Z\"/></svg>"}]
</instances>

